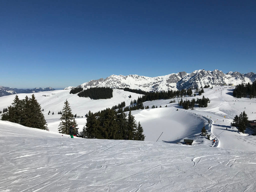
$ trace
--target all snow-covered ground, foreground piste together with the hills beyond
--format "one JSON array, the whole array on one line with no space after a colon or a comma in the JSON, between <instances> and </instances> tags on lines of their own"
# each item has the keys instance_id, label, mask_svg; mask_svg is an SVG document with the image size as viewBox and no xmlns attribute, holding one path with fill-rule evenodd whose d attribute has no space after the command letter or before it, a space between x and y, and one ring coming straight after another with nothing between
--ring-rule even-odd
<instances>
[{"instance_id":1,"label":"all snow-covered ground, foreground piste together with the hills beyond","mask_svg":"<svg viewBox=\"0 0 256 192\"><path fill-rule=\"evenodd\" d=\"M139 94L114 90L111 99L91 100L69 90L35 93L50 131L0 121L0 192L256 191L255 136L230 126L243 111L249 120L256 119L256 100L234 98L225 86L204 91L197 97L210 99L207 108L184 110L175 98L176 103L147 101L143 104L150 109L132 111L143 126L145 141L71 139L57 133L57 113L66 99L73 114L84 116L123 101L130 105ZM26 95L18 94L20 99ZM0 109L14 97L0 97ZM49 110L55 114L48 115ZM86 118L76 120L80 129L86 123ZM210 141L200 136L204 125ZM184 138L194 139L193 145L176 144Z\"/></svg>"}]
</instances>

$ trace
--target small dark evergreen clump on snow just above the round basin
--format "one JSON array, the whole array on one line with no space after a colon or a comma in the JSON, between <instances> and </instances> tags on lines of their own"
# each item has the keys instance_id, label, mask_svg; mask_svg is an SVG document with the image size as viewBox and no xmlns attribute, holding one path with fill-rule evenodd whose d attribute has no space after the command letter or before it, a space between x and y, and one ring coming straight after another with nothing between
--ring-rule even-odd
<instances>
[{"instance_id":1,"label":"small dark evergreen clump on snow just above the round basin","mask_svg":"<svg viewBox=\"0 0 256 192\"><path fill-rule=\"evenodd\" d=\"M183 109L194 109L195 104L198 104L198 107L207 107L208 103L210 103L210 100L208 98L205 98L203 95L202 99L192 99L190 100L180 100L179 101L179 106L182 106Z\"/></svg>"}]
</instances>

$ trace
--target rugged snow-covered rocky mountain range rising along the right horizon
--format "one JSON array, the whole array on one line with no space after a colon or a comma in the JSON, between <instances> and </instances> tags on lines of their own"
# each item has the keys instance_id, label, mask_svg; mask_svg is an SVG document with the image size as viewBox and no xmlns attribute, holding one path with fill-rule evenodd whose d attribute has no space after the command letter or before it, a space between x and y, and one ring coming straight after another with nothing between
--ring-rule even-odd
<instances>
[{"instance_id":1,"label":"rugged snow-covered rocky mountain range rising along the right horizon","mask_svg":"<svg viewBox=\"0 0 256 192\"><path fill-rule=\"evenodd\" d=\"M141 89L143 91L168 91L181 89L195 89L197 87L216 87L225 84L238 85L241 83L252 83L256 79L253 72L239 73L228 72L223 73L215 69L214 71L206 71L204 69L186 73L185 71L172 73L165 76L145 77L139 75L111 75L105 79L91 80L77 87L88 89L90 87L110 87L112 89L125 88ZM66 87L72 89L74 87Z\"/></svg>"}]
</instances>

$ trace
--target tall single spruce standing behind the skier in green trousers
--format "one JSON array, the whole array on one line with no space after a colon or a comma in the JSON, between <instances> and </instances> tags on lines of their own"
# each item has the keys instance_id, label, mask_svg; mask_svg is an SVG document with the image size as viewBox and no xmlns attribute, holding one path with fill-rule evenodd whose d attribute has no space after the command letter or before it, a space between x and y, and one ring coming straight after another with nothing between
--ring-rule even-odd
<instances>
[{"instance_id":1,"label":"tall single spruce standing behind the skier in green trousers","mask_svg":"<svg viewBox=\"0 0 256 192\"><path fill-rule=\"evenodd\" d=\"M72 111L67 99L64 102L64 107L61 112L62 112L62 115L60 117L61 122L59 124L58 131L59 133L69 134L69 127L72 126L72 124L76 121L74 120L74 115L72 114Z\"/></svg>"}]
</instances>

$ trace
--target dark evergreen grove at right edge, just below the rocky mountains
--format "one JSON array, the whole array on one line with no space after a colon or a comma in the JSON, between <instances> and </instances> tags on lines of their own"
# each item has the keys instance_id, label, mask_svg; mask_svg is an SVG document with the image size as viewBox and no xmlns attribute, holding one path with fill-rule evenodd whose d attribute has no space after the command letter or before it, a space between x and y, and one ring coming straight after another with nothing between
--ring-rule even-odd
<instances>
[{"instance_id":1,"label":"dark evergreen grove at right edge, just below the rocky mountains","mask_svg":"<svg viewBox=\"0 0 256 192\"><path fill-rule=\"evenodd\" d=\"M244 84L237 85L236 88L233 90L233 96L237 98L256 97L256 81L254 81L252 84L247 83L246 85Z\"/></svg>"}]
</instances>

